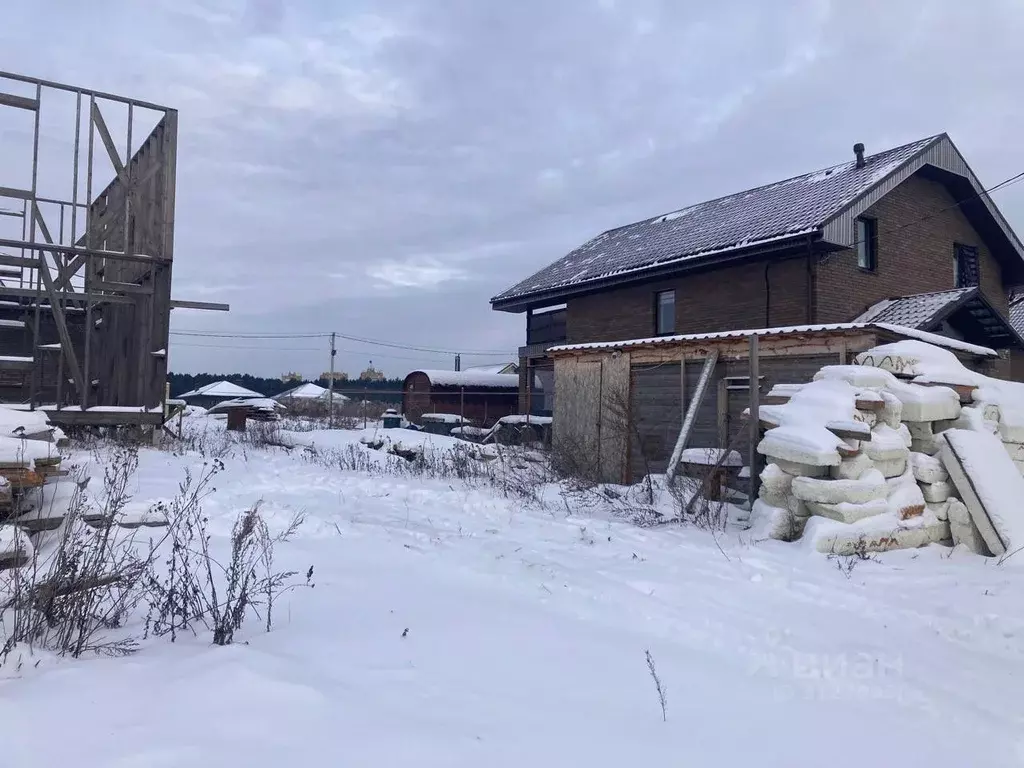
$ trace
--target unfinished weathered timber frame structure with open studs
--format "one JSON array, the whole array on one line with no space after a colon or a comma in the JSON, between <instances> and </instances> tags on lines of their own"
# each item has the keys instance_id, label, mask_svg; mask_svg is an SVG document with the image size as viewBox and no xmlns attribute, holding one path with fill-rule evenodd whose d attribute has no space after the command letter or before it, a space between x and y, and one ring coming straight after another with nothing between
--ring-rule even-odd
<instances>
[{"instance_id":1,"label":"unfinished weathered timber frame structure with open studs","mask_svg":"<svg viewBox=\"0 0 1024 768\"><path fill-rule=\"evenodd\" d=\"M0 168L0 401L68 425L160 424L171 308L227 309L171 299L177 112L0 72L8 110L33 128L30 177L8 181ZM133 127L154 118L138 141ZM41 122L65 133L43 135ZM53 138L72 147L55 171ZM113 176L105 186L99 173Z\"/></svg>"}]
</instances>

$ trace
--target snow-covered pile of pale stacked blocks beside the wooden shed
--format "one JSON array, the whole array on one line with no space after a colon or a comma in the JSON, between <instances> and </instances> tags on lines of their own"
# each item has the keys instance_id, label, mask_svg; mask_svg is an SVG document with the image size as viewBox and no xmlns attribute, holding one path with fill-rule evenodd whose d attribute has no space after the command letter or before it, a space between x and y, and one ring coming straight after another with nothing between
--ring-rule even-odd
<instances>
[{"instance_id":1,"label":"snow-covered pile of pale stacked blocks beside the wooden shed","mask_svg":"<svg viewBox=\"0 0 1024 768\"><path fill-rule=\"evenodd\" d=\"M769 392L754 508L765 535L837 554L1024 545L1024 386L918 341L856 361Z\"/></svg>"}]
</instances>

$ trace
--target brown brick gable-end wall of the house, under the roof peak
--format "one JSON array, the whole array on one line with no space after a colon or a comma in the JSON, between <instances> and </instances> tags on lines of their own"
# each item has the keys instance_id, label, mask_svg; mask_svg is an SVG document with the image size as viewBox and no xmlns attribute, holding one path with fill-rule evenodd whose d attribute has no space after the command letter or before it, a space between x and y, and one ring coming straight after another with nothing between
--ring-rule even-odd
<instances>
[{"instance_id":1,"label":"brown brick gable-end wall of the house, under the roof peak","mask_svg":"<svg viewBox=\"0 0 1024 768\"><path fill-rule=\"evenodd\" d=\"M844 323L881 299L954 288L954 243L977 246L981 290L1006 314L999 264L961 209L946 210L954 204L939 182L911 176L868 209L865 215L878 219L878 268L873 272L858 268L852 250L840 251L819 263L817 322ZM935 218L906 226L933 215Z\"/></svg>"}]
</instances>

